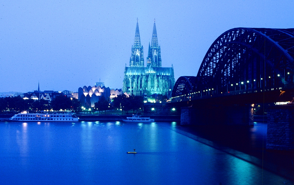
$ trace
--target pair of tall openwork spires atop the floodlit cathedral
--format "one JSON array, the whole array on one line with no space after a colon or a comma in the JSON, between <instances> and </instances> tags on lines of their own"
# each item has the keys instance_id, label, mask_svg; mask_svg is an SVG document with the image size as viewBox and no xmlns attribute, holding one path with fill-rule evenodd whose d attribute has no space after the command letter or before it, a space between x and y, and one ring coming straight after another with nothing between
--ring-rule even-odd
<instances>
[{"instance_id":1,"label":"pair of tall openwork spires atop the floodlit cathedral","mask_svg":"<svg viewBox=\"0 0 294 185\"><path fill-rule=\"evenodd\" d=\"M147 67L161 67L160 46L158 46L156 24L154 19L151 46L149 43ZM130 57L130 67L144 67L143 46L141 45L139 23L137 18L136 33L132 53Z\"/></svg>"}]
</instances>

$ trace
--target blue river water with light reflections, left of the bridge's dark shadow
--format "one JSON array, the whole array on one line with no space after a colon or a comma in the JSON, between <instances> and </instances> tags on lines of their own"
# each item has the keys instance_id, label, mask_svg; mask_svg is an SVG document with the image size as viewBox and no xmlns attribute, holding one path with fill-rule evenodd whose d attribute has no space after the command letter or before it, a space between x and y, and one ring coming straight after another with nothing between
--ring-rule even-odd
<instances>
[{"instance_id":1,"label":"blue river water with light reflections, left of the bridge's dark shadow","mask_svg":"<svg viewBox=\"0 0 294 185\"><path fill-rule=\"evenodd\" d=\"M0 184L293 184L179 128L0 122Z\"/></svg>"}]
</instances>

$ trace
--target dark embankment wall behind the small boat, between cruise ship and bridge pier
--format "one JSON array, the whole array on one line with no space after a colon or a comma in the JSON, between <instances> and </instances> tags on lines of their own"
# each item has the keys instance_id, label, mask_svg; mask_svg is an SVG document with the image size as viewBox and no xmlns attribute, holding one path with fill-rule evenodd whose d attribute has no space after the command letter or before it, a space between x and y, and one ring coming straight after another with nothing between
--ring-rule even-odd
<instances>
[{"instance_id":1,"label":"dark embankment wall behind the small boat, between cruise ship and bridge pier","mask_svg":"<svg viewBox=\"0 0 294 185\"><path fill-rule=\"evenodd\" d=\"M80 119L79 121L122 121L126 117L131 117L132 115L76 115ZM181 120L180 115L141 115L141 117L150 117L154 121L167 121L179 122Z\"/></svg>"}]
</instances>

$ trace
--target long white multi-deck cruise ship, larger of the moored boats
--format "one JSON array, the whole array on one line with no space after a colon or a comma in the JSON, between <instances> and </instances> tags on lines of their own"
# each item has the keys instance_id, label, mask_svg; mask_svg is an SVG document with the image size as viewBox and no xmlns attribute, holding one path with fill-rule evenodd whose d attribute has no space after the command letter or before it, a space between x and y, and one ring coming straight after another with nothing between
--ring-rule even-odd
<instances>
[{"instance_id":1,"label":"long white multi-deck cruise ship, larger of the moored boats","mask_svg":"<svg viewBox=\"0 0 294 185\"><path fill-rule=\"evenodd\" d=\"M56 122L76 122L78 117L69 114L57 114L57 113L32 113L22 111L12 116L9 121L56 121Z\"/></svg>"}]
</instances>

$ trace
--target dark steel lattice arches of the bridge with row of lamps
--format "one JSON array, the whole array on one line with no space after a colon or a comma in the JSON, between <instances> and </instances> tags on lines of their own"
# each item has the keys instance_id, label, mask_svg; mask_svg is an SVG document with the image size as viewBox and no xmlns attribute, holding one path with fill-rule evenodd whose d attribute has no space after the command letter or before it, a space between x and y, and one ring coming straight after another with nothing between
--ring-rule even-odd
<instances>
[{"instance_id":1,"label":"dark steel lattice arches of the bridge with row of lamps","mask_svg":"<svg viewBox=\"0 0 294 185\"><path fill-rule=\"evenodd\" d=\"M182 76L172 102L294 87L294 28L233 28L207 51L196 77Z\"/></svg>"}]
</instances>

